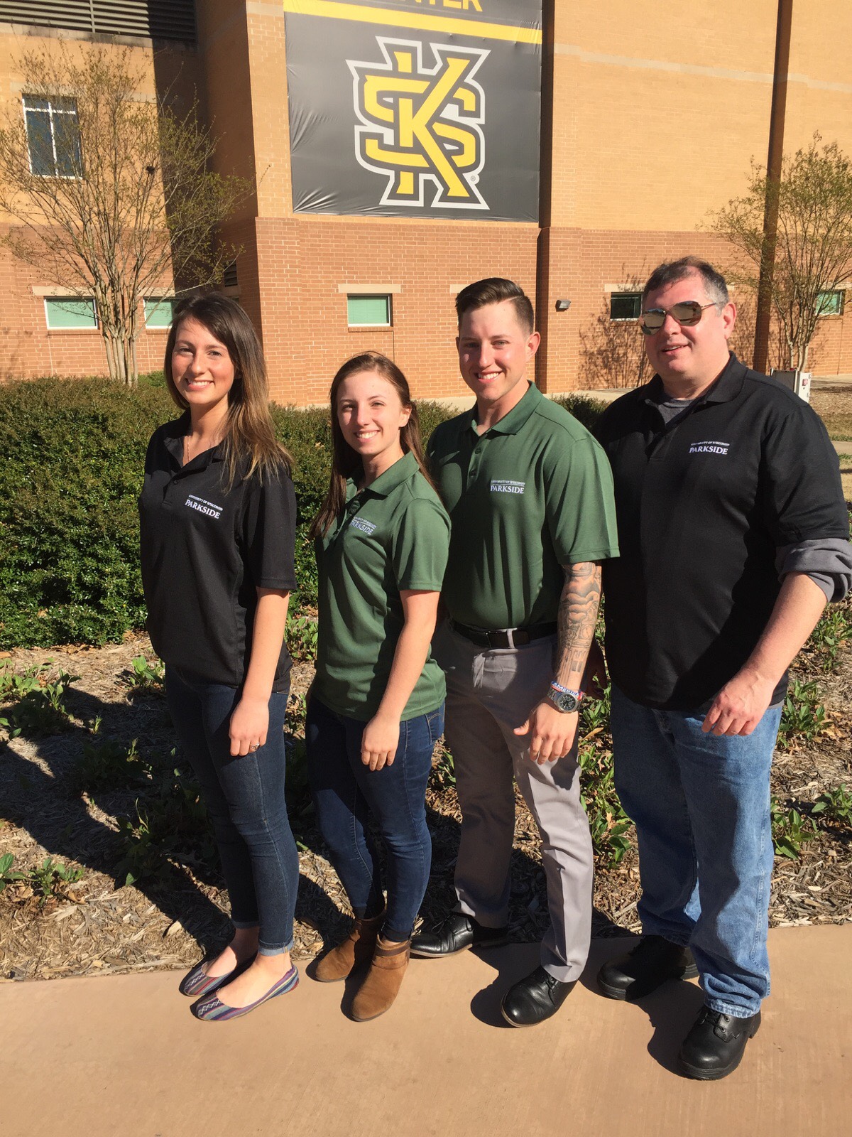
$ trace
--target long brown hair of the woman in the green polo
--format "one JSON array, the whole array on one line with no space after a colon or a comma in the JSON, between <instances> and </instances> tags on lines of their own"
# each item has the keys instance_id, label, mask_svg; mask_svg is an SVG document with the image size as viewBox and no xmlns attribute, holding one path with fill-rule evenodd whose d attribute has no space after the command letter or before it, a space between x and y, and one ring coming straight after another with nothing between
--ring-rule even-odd
<instances>
[{"instance_id":1,"label":"long brown hair of the woman in the green polo","mask_svg":"<svg viewBox=\"0 0 852 1137\"><path fill-rule=\"evenodd\" d=\"M360 355L346 359L334 376L332 389L328 392L328 401L332 406L332 479L325 501L311 522L310 532L308 533L310 540L315 540L317 537L325 537L328 532L334 518L342 512L346 504L346 479L360 474L364 468L360 456L356 454L343 438L343 431L337 420L337 392L341 384L350 375L354 375L359 371L371 371L376 375L381 375L382 379L386 379L399 395L402 406L410 408L411 414L408 422L400 430L400 446L404 454L414 454L415 458L417 458L417 465L420 467L420 473L429 485L435 489L435 483L432 480L426 463L426 455L423 450L420 422L417 417L417 406L411 400L411 392L408 389L408 380L396 364L392 359L389 359L387 356L383 356L378 351L362 351Z\"/></svg>"}]
</instances>

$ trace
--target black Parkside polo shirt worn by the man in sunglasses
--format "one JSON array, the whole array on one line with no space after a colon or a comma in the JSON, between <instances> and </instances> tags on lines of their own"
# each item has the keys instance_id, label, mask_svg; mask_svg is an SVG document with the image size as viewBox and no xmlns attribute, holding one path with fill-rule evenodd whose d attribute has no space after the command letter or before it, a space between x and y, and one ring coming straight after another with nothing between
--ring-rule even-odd
<instances>
[{"instance_id":1,"label":"black Parkside polo shirt worn by the man in sunglasses","mask_svg":"<svg viewBox=\"0 0 852 1137\"><path fill-rule=\"evenodd\" d=\"M779 546L849 537L837 457L815 412L735 356L663 424L658 375L595 434L612 465L621 557L603 565L613 682L645 706L708 705L754 649ZM772 702L780 699L786 677Z\"/></svg>"}]
</instances>

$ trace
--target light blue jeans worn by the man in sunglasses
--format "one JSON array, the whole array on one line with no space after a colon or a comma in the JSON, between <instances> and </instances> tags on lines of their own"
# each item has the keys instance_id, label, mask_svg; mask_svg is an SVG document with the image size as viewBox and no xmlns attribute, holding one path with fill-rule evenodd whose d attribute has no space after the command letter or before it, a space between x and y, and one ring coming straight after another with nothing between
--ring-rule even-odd
<instances>
[{"instance_id":1,"label":"light blue jeans worn by the man in sunglasses","mask_svg":"<svg viewBox=\"0 0 852 1137\"><path fill-rule=\"evenodd\" d=\"M780 721L704 735L699 712L652 711L612 687L616 789L636 823L646 936L688 945L713 1011L745 1019L769 994L769 770Z\"/></svg>"}]
</instances>

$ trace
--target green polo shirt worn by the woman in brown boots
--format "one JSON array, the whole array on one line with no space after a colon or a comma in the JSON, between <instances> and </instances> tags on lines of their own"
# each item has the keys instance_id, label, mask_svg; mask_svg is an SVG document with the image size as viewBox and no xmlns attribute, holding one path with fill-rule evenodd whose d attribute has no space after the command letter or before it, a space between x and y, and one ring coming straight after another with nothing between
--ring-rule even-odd
<instances>
[{"instance_id":1,"label":"green polo shirt worn by the woman in brown boots","mask_svg":"<svg viewBox=\"0 0 852 1137\"><path fill-rule=\"evenodd\" d=\"M314 692L337 714L368 721L378 709L404 624L402 589L440 592L450 518L412 454L359 493L316 541L319 645ZM434 711L444 675L429 656L402 719Z\"/></svg>"}]
</instances>

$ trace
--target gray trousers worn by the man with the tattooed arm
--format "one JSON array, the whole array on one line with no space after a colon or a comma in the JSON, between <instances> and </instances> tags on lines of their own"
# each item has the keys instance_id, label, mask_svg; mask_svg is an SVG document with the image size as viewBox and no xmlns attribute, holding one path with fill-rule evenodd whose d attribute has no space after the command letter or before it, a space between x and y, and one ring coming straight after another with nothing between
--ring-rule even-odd
<instances>
[{"instance_id":1,"label":"gray trousers worn by the man with the tattooed arm","mask_svg":"<svg viewBox=\"0 0 852 1137\"><path fill-rule=\"evenodd\" d=\"M513 774L542 838L551 920L542 965L567 982L583 971L592 928L592 839L579 799L577 744L567 757L538 765L529 758L529 737L512 733L548 691L554 648L554 637L481 648L444 623L433 654L446 673L444 730L462 814L457 911L488 928L508 922Z\"/></svg>"}]
</instances>

